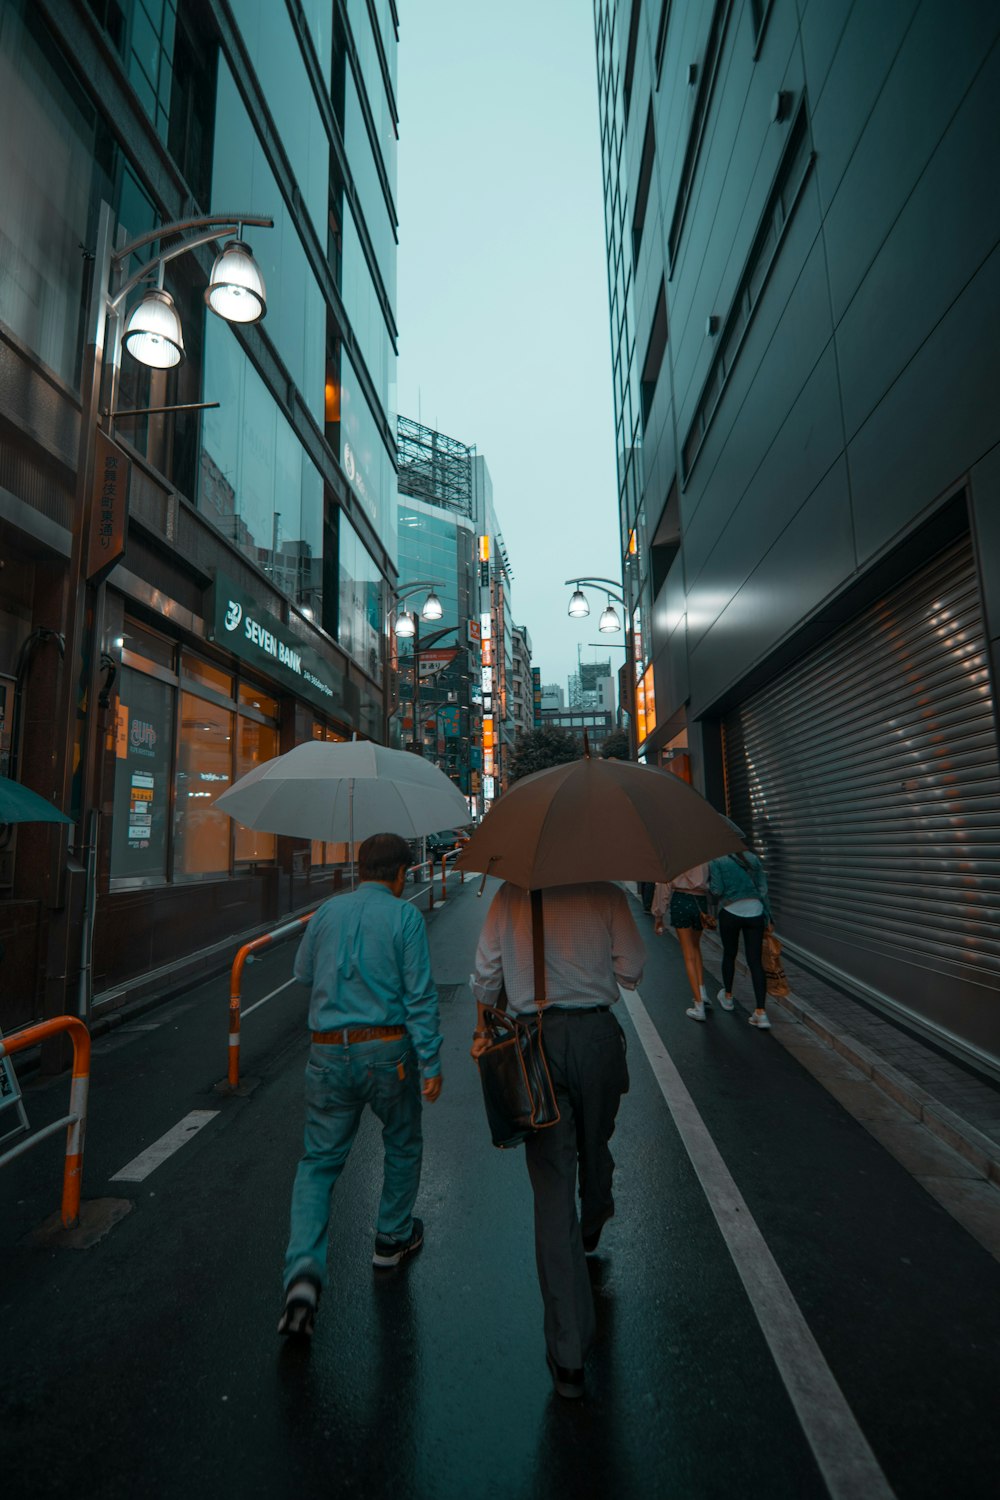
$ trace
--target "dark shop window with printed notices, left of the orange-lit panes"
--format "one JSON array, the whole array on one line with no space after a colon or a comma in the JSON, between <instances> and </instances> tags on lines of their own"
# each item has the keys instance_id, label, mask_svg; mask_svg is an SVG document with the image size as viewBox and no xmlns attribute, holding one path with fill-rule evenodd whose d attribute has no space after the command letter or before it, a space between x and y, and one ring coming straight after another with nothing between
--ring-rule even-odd
<instances>
[{"instance_id":1,"label":"dark shop window with printed notices, left of the orange-lit panes","mask_svg":"<svg viewBox=\"0 0 1000 1500\"><path fill-rule=\"evenodd\" d=\"M166 879L174 690L121 669L115 717L111 879Z\"/></svg>"}]
</instances>

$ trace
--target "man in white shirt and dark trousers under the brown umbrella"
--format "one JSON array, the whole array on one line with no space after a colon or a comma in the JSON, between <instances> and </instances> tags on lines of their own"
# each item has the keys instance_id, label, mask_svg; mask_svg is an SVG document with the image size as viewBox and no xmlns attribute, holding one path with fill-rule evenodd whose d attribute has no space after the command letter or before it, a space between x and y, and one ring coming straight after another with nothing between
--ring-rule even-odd
<instances>
[{"instance_id":1,"label":"man in white shirt and dark trousers under the brown umbrella","mask_svg":"<svg viewBox=\"0 0 1000 1500\"><path fill-rule=\"evenodd\" d=\"M625 892L610 884L559 885L541 892L544 916L544 1048L561 1119L525 1143L535 1200L535 1260L544 1302L549 1368L562 1396L583 1395L583 1360L594 1341L586 1254L615 1212L609 1140L628 1089L625 1036L613 1014L618 987L634 990L646 950ZM475 954L478 1024L472 1056L486 1046L483 1006L501 987L514 1014L535 1004L531 896L502 885ZM580 1214L577 1216L577 1167Z\"/></svg>"}]
</instances>

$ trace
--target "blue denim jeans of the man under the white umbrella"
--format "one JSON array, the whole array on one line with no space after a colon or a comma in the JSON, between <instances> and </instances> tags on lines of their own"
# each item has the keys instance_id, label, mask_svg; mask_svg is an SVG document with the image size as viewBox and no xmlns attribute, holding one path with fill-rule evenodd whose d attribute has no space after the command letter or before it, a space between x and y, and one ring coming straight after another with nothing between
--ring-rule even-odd
<instances>
[{"instance_id":1,"label":"blue denim jeans of the man under the white umbrella","mask_svg":"<svg viewBox=\"0 0 1000 1500\"><path fill-rule=\"evenodd\" d=\"M408 1239L420 1186L420 1070L406 1036L349 1047L313 1042L306 1064L306 1150L292 1188L285 1287L301 1275L327 1278L330 1198L364 1106L382 1122L385 1152L378 1233Z\"/></svg>"}]
</instances>

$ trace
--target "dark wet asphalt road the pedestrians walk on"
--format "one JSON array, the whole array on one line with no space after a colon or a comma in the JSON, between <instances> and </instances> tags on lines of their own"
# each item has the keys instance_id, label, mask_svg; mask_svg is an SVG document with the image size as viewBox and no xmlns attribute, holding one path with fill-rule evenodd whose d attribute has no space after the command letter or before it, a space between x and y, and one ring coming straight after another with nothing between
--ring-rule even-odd
<instances>
[{"instance_id":1,"label":"dark wet asphalt road the pedestrians walk on","mask_svg":"<svg viewBox=\"0 0 1000 1500\"><path fill-rule=\"evenodd\" d=\"M304 992L247 1018L244 1096L214 1088L225 978L94 1044L84 1197L132 1212L90 1250L39 1250L24 1236L58 1203L61 1142L0 1174L4 1497L831 1492L625 1017L618 1215L591 1262L600 1341L586 1400L552 1394L523 1154L490 1146L468 1059L475 888L429 928L445 1088L424 1112L424 1250L372 1270L367 1120L307 1353L274 1334ZM292 952L247 972L246 1008ZM687 1020L673 940L651 934L649 954L645 1005L892 1491L994 1496L1000 1266L774 1036L741 1011ZM30 1084L33 1125L66 1096L66 1080ZM145 1182L109 1180L192 1110L217 1113Z\"/></svg>"}]
</instances>

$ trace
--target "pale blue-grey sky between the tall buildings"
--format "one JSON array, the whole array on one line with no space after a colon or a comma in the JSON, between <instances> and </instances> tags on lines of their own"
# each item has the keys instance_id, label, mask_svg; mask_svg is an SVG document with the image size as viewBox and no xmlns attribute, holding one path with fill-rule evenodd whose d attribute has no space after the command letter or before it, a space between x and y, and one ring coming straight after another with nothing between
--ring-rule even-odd
<instances>
[{"instance_id":1,"label":"pale blue-grey sky between the tall buildings","mask_svg":"<svg viewBox=\"0 0 1000 1500\"><path fill-rule=\"evenodd\" d=\"M562 580L619 572L591 0L403 0L399 112L399 410L486 458L565 687L604 600L573 621Z\"/></svg>"}]
</instances>

